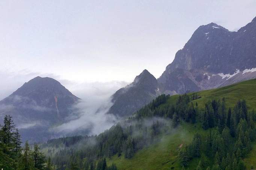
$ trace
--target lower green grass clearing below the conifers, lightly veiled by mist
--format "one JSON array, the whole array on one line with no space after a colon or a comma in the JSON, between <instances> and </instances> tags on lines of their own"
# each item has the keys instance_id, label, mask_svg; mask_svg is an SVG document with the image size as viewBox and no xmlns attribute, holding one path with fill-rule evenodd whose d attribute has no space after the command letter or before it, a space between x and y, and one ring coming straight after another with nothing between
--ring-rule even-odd
<instances>
[{"instance_id":1,"label":"lower green grass clearing below the conifers, lightly veiled by mist","mask_svg":"<svg viewBox=\"0 0 256 170\"><path fill-rule=\"evenodd\" d=\"M182 123L177 131L170 135L165 135L161 141L137 152L133 158L125 159L114 156L107 160L108 164L114 162L118 169L137 169L137 170L155 170L155 169L181 169L177 160L178 148L183 144L190 143L196 131L202 132L199 125ZM193 164L194 163L194 164ZM197 165L198 162L191 162L191 165Z\"/></svg>"}]
</instances>

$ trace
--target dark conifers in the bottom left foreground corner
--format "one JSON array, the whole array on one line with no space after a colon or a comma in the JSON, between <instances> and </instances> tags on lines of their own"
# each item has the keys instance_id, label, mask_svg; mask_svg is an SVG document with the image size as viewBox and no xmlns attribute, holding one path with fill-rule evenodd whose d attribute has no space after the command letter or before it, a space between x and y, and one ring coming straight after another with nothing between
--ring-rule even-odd
<instances>
[{"instance_id":1,"label":"dark conifers in the bottom left foreground corner","mask_svg":"<svg viewBox=\"0 0 256 170\"><path fill-rule=\"evenodd\" d=\"M4 170L53 170L51 159L45 159L38 144L30 149L26 142L21 147L21 135L15 128L12 116L6 115L0 125L0 169Z\"/></svg>"}]
</instances>

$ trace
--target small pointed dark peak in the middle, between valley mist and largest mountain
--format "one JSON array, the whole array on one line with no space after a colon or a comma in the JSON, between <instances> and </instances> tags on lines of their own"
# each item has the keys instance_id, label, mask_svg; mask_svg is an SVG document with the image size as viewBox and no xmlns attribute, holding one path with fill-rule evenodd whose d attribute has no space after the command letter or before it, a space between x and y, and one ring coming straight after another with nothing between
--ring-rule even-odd
<instances>
[{"instance_id":1,"label":"small pointed dark peak in the middle, between valley mist and largest mountain","mask_svg":"<svg viewBox=\"0 0 256 170\"><path fill-rule=\"evenodd\" d=\"M121 117L130 115L143 105L151 102L159 94L157 79L145 69L140 75L136 76L133 83L114 93L112 96L114 104L108 113Z\"/></svg>"}]
</instances>

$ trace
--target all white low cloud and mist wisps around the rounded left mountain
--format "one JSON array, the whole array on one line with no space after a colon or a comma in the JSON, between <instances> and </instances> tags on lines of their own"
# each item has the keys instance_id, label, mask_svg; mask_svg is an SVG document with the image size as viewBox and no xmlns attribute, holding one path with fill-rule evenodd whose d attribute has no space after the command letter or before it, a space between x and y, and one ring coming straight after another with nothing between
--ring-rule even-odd
<instances>
[{"instance_id":1,"label":"all white low cloud and mist wisps around the rounded left mountain","mask_svg":"<svg viewBox=\"0 0 256 170\"><path fill-rule=\"evenodd\" d=\"M79 131L86 131L88 135L94 135L110 128L116 121L116 117L112 114L105 114L112 105L111 95L128 84L125 81L76 83L62 79L57 75L30 72L28 70L20 72L0 71L0 78L3 82L0 84L2 89L0 100L11 95L12 92L21 87L25 82L37 76L54 78L74 95L81 98L81 101L74 106L75 111L66 118L66 123L50 129L50 131L63 135L74 134ZM24 99L20 98L20 96L15 96L15 101L24 101ZM24 107L37 111L46 111L45 109L47 109L36 104L24 105ZM13 106L0 106L0 110L6 110L6 108L13 109ZM19 127L31 128L38 125L40 125L38 122L23 123Z\"/></svg>"}]
</instances>

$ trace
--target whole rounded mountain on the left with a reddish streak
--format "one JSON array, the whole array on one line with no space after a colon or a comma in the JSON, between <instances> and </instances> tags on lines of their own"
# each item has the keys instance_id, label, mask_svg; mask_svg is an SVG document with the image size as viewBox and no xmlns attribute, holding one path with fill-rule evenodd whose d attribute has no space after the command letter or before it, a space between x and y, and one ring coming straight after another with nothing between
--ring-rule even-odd
<instances>
[{"instance_id":1,"label":"whole rounded mountain on the left with a reddish streak","mask_svg":"<svg viewBox=\"0 0 256 170\"><path fill-rule=\"evenodd\" d=\"M48 132L48 128L64 122L71 113L72 105L78 101L79 98L59 81L36 77L0 101L0 116L1 119L6 114L13 116L24 139L32 136L36 140L47 139L48 135L53 135Z\"/></svg>"}]
</instances>

